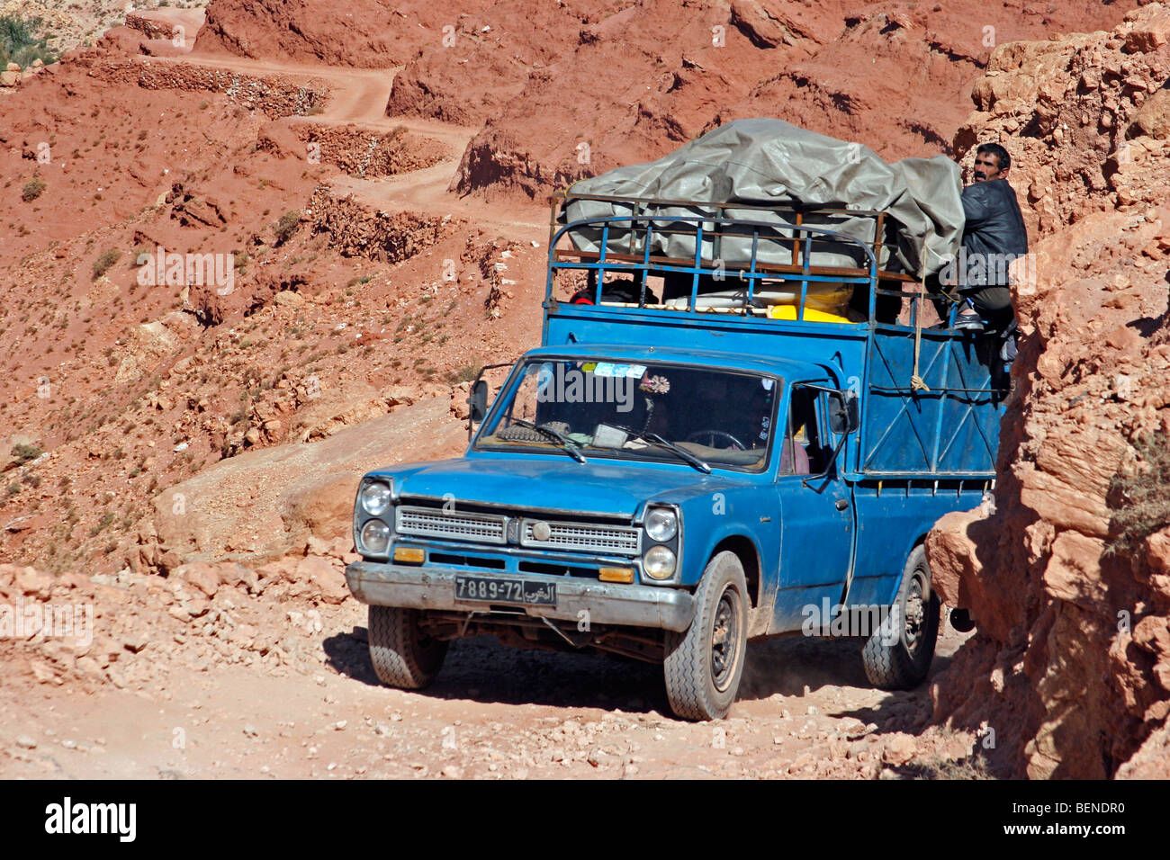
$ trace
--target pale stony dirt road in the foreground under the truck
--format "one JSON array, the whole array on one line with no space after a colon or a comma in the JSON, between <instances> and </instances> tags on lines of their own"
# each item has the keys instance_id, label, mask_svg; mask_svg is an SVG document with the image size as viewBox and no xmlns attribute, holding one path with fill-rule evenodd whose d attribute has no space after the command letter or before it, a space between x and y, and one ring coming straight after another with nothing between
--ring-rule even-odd
<instances>
[{"instance_id":1,"label":"pale stony dirt road in the foreground under the truck","mask_svg":"<svg viewBox=\"0 0 1170 860\"><path fill-rule=\"evenodd\" d=\"M872 689L853 640L755 644L730 717L687 723L658 667L489 638L454 644L431 689L388 689L364 607L323 620L301 670L207 665L153 692L42 683L5 696L0 778L874 778L971 748L922 735L927 684ZM934 672L962 640L948 627Z\"/></svg>"}]
</instances>

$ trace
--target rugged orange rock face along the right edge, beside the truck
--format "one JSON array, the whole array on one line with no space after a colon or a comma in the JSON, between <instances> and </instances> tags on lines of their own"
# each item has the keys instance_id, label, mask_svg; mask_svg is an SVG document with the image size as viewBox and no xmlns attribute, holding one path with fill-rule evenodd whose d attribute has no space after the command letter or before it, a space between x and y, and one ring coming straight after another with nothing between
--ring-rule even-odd
<instances>
[{"instance_id":1,"label":"rugged orange rock face along the right edge, beside the truck","mask_svg":"<svg viewBox=\"0 0 1170 860\"><path fill-rule=\"evenodd\" d=\"M1166 776L1170 160L1129 135L1170 73L1165 16L1003 47L956 144L1019 153L1039 236L994 505L927 541L944 601L979 624L936 716L993 728L993 755L1033 778Z\"/></svg>"}]
</instances>

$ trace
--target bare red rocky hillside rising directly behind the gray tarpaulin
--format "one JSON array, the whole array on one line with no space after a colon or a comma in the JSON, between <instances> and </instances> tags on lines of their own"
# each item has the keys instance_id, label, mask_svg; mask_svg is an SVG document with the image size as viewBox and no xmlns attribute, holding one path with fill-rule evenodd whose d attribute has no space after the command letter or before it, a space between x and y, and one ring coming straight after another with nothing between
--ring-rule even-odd
<instances>
[{"instance_id":1,"label":"bare red rocky hillside rising directly behind the gray tarpaulin","mask_svg":"<svg viewBox=\"0 0 1170 860\"><path fill-rule=\"evenodd\" d=\"M997 44L1109 27L1124 8L1025 4L1019 14L991 15L962 4L737 0L680 14L673 0L648 0L593 16L576 44L553 43L550 61L531 63L518 96L489 111L472 139L454 187L539 199L751 116L859 140L890 160L949 153L971 80ZM466 87L447 84L440 61L414 63L400 108L475 109L461 98ZM502 80L510 87L516 70Z\"/></svg>"}]
</instances>

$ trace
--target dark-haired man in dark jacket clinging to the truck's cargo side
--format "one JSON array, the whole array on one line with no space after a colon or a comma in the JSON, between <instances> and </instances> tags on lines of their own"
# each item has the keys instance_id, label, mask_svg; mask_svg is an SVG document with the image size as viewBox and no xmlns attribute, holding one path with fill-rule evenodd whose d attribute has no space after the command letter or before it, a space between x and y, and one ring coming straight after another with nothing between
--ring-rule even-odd
<instances>
[{"instance_id":1,"label":"dark-haired man in dark jacket clinging to the truck's cargo side","mask_svg":"<svg viewBox=\"0 0 1170 860\"><path fill-rule=\"evenodd\" d=\"M956 329L983 330L987 321L1009 332L1012 298L1007 267L1027 253L1027 231L1016 192L1007 183L1011 156L996 143L975 154L975 181L963 188L963 246L957 264L943 269L941 283L958 290L962 307ZM948 277L949 275L949 277Z\"/></svg>"}]
</instances>

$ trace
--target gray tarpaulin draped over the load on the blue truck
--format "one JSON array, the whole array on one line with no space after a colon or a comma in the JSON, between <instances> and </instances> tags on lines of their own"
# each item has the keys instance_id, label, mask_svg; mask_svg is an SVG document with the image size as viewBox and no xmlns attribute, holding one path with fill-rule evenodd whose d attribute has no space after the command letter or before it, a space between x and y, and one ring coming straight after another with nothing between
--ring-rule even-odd
<instances>
[{"instance_id":1,"label":"gray tarpaulin draped over the load on the blue truck","mask_svg":"<svg viewBox=\"0 0 1170 860\"><path fill-rule=\"evenodd\" d=\"M962 185L958 165L944 156L906 158L887 164L872 150L856 143L838 140L806 131L783 119L736 119L713 129L700 138L656 161L618 167L572 186L573 193L606 194L621 198L743 202L750 205L799 202L847 209L885 209L896 229L896 257L882 248L882 268L900 268L920 277L937 271L948 254L957 254L963 235ZM670 215L713 215L704 206L641 206L669 225ZM562 222L589 218L632 214L620 202L571 200L562 212ZM725 216L757 221L791 221L791 215L728 208ZM804 223L815 225L814 216ZM839 233L873 241L874 222L866 218L845 218L825 225ZM790 234L786 234L790 235ZM570 234L578 250L599 250L599 229L578 229ZM611 253L628 249L628 233L611 228ZM704 257L715 259L704 238ZM791 241L760 241L757 260L763 263L791 262ZM846 243L832 247L814 245L813 266L863 266L863 252ZM722 240L718 257L727 266L746 263L751 240ZM639 248L641 250L641 248ZM693 235L655 233L652 253L666 256L695 255Z\"/></svg>"}]
</instances>

